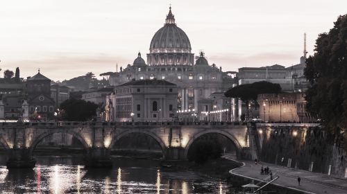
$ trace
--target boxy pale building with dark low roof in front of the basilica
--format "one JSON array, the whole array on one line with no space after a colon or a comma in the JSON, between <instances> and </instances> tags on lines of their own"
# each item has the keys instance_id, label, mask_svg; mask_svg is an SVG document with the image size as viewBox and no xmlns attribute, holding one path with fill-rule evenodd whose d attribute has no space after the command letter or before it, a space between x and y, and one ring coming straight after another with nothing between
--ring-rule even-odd
<instances>
[{"instance_id":1,"label":"boxy pale building with dark low roof in front of the basilica","mask_svg":"<svg viewBox=\"0 0 347 194\"><path fill-rule=\"evenodd\" d=\"M177 85L166 80L133 80L115 89L115 121L173 121Z\"/></svg>"}]
</instances>

